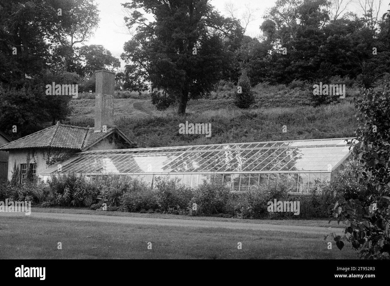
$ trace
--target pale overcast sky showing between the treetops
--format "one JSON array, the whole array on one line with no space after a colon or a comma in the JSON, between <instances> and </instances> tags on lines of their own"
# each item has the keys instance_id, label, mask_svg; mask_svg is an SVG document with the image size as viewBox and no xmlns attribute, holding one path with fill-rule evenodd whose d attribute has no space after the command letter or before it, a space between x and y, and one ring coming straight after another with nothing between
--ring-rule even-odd
<instances>
[{"instance_id":1,"label":"pale overcast sky showing between the treetops","mask_svg":"<svg viewBox=\"0 0 390 286\"><path fill-rule=\"evenodd\" d=\"M225 11L225 3L230 2L234 4L239 9L237 12L237 16L239 18L241 18L241 14L245 12L245 4L248 4L251 9L257 9L255 12L256 19L248 25L246 31L246 35L256 37L261 32L259 26L262 23L262 16L267 9L275 5L275 1L276 0L211 0L210 3L224 16L227 16L227 12ZM358 0L353 1L355 1L355 3L350 5L351 10L358 12ZM106 49L111 51L113 56L120 58L121 53L123 53L123 44L131 38L131 36L127 33L128 29L124 25L123 20L124 16L126 16L126 12L121 6L121 3L125 3L127 1L95 0L95 2L98 4L98 8L100 10L99 28L97 28L95 35L91 39L85 41L85 44L103 45ZM380 15L382 15L386 9L388 9L387 2L382 0L383 4L380 10ZM122 60L121 65L121 68L123 68L124 62Z\"/></svg>"}]
</instances>

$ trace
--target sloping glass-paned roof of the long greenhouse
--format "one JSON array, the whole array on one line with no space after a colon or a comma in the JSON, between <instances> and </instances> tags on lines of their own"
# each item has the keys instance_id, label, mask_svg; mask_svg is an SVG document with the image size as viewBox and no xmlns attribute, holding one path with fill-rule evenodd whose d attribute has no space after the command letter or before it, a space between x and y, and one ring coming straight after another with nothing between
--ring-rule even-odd
<instances>
[{"instance_id":1,"label":"sloping glass-paned roof of the long greenhouse","mask_svg":"<svg viewBox=\"0 0 390 286\"><path fill-rule=\"evenodd\" d=\"M331 172L353 138L85 151L40 175Z\"/></svg>"}]
</instances>

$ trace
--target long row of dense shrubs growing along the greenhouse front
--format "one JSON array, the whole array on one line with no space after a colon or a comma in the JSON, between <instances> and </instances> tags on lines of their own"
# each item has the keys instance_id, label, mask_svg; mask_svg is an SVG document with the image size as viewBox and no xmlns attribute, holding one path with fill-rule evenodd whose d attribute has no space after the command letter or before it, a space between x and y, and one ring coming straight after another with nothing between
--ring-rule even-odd
<instances>
[{"instance_id":1,"label":"long row of dense shrubs growing along the greenhouse front","mask_svg":"<svg viewBox=\"0 0 390 286\"><path fill-rule=\"evenodd\" d=\"M163 212L190 216L223 216L236 218L324 218L332 204L331 188L321 187L312 196L293 195L285 181L251 187L247 193L231 193L214 181L204 181L197 188L177 179L162 180L153 187L143 181L91 182L74 174L53 177L47 184L5 183L0 185L0 200L30 200L41 206L90 207L93 210L126 212ZM300 214L269 212L274 199L299 201Z\"/></svg>"}]
</instances>

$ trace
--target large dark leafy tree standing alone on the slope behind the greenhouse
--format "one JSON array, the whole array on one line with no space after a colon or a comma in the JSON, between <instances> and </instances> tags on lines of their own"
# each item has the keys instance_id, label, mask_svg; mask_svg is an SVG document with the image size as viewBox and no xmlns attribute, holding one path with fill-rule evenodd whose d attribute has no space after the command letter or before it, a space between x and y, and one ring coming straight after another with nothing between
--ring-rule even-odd
<instances>
[{"instance_id":1,"label":"large dark leafy tree standing alone on the slope behind the greenhouse","mask_svg":"<svg viewBox=\"0 0 390 286\"><path fill-rule=\"evenodd\" d=\"M234 53L225 43L242 38L238 21L220 16L208 0L134 0L122 5L131 11L125 18L128 28L136 26L121 55L128 63L125 73L151 82L163 90L161 96L176 98L178 114L185 113L190 98L208 97L232 66ZM147 21L140 10L151 13L154 21Z\"/></svg>"}]
</instances>

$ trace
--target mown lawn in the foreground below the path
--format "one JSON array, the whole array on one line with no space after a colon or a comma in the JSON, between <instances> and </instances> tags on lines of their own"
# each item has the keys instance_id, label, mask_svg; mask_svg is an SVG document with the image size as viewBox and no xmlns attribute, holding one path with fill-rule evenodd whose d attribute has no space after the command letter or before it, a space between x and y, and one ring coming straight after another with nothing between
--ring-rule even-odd
<instances>
[{"instance_id":1,"label":"mown lawn in the foreground below the path","mask_svg":"<svg viewBox=\"0 0 390 286\"><path fill-rule=\"evenodd\" d=\"M62 242L62 249L57 249ZM147 249L147 243L152 249ZM238 249L238 242L242 249ZM0 258L5 259L356 259L355 251L327 249L314 234L61 221L2 217Z\"/></svg>"}]
</instances>

